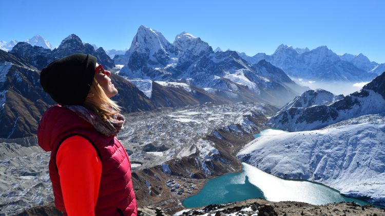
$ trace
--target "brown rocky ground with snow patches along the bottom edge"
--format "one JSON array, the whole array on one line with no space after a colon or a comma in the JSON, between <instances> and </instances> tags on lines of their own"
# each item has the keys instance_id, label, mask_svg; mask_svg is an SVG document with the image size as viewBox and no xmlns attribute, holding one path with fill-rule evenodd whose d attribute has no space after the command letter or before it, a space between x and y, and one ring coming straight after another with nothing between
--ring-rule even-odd
<instances>
[{"instance_id":1,"label":"brown rocky ground with snow patches along the bottom edge","mask_svg":"<svg viewBox=\"0 0 385 216\"><path fill-rule=\"evenodd\" d=\"M246 200L237 203L228 203L224 205L208 205L196 209L184 209L175 214L164 213L160 207L145 206L138 208L140 216L167 216L167 215L385 215L385 209L374 206L359 206L354 203L334 203L328 205L311 205L301 202L269 202L262 199ZM53 203L46 206L37 206L27 209L17 215L62 215L57 211Z\"/></svg>"}]
</instances>

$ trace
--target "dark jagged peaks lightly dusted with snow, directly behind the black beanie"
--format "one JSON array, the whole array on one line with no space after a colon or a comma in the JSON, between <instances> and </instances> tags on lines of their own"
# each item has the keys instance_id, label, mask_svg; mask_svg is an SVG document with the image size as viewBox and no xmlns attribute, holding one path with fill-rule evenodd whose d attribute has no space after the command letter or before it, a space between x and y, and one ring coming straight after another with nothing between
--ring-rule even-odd
<instances>
[{"instance_id":1,"label":"dark jagged peaks lightly dusted with snow, directly behind the black beanie","mask_svg":"<svg viewBox=\"0 0 385 216\"><path fill-rule=\"evenodd\" d=\"M113 61L102 47L95 50L92 45L83 44L82 40L75 34L69 35L61 42L59 47L53 50L20 42L9 52L28 59L37 69L42 69L55 59L63 58L73 53L89 53L97 57L98 62L102 63L106 68L114 66Z\"/></svg>"}]
</instances>

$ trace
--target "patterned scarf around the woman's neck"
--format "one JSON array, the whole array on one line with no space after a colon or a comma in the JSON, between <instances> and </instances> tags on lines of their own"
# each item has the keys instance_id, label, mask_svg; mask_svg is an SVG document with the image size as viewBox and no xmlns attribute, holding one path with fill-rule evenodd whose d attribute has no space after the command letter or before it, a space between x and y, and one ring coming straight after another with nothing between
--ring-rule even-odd
<instances>
[{"instance_id":1,"label":"patterned scarf around the woman's neck","mask_svg":"<svg viewBox=\"0 0 385 216\"><path fill-rule=\"evenodd\" d=\"M103 121L98 115L94 114L91 110L81 105L67 105L63 106L68 110L76 113L83 120L92 124L95 130L104 134L105 136L116 136L121 129L123 129L124 116L120 113L112 115L112 119Z\"/></svg>"}]
</instances>

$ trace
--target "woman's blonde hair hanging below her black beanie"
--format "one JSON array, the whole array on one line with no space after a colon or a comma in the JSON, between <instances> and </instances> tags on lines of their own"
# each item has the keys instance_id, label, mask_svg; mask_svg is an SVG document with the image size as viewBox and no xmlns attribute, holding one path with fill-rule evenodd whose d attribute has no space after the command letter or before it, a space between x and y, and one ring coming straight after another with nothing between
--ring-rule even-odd
<instances>
[{"instance_id":1,"label":"woman's blonde hair hanging below her black beanie","mask_svg":"<svg viewBox=\"0 0 385 216\"><path fill-rule=\"evenodd\" d=\"M100 116L103 121L112 119L112 115L118 114L121 111L121 107L107 97L102 86L99 85L95 78L93 78L89 92L94 94L101 103L87 97L83 105Z\"/></svg>"}]
</instances>

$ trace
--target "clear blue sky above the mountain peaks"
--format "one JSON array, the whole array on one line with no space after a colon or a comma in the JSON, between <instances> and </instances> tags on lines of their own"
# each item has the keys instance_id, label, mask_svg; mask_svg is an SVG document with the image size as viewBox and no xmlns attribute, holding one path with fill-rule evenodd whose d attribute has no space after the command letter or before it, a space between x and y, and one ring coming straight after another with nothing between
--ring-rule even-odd
<instances>
[{"instance_id":1,"label":"clear blue sky above the mountain peaks","mask_svg":"<svg viewBox=\"0 0 385 216\"><path fill-rule=\"evenodd\" d=\"M130 46L140 25L171 43L187 31L215 49L253 56L280 44L337 54L363 53L385 63L385 1L26 1L3 0L0 40L40 34L58 46L69 34L105 49Z\"/></svg>"}]
</instances>

